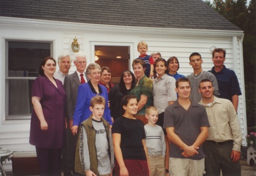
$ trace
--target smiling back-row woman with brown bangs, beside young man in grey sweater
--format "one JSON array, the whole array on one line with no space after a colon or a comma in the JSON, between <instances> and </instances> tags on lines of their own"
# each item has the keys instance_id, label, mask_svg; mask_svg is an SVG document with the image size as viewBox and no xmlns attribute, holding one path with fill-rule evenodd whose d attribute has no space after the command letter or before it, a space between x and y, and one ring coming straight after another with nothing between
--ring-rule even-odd
<instances>
[{"instance_id":1,"label":"smiling back-row woman with brown bangs, beside young man in grey sweater","mask_svg":"<svg viewBox=\"0 0 256 176\"><path fill-rule=\"evenodd\" d=\"M179 64L179 60L178 58L176 58L175 56L170 57L167 60L167 65L168 65L168 75L172 76L175 78L175 80L179 79L179 78L183 78L185 77L183 74L179 74L177 73L177 71L180 68L180 64Z\"/></svg>"}]
</instances>

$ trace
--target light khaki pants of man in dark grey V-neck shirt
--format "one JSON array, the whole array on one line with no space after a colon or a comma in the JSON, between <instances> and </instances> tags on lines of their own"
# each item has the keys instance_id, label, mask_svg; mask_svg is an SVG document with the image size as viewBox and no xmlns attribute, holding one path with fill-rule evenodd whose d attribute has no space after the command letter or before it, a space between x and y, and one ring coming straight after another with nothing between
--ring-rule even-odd
<instances>
[{"instance_id":1,"label":"light khaki pants of man in dark grey V-neck shirt","mask_svg":"<svg viewBox=\"0 0 256 176\"><path fill-rule=\"evenodd\" d=\"M170 157L169 170L172 176L202 176L204 174L204 158L191 160Z\"/></svg>"}]
</instances>

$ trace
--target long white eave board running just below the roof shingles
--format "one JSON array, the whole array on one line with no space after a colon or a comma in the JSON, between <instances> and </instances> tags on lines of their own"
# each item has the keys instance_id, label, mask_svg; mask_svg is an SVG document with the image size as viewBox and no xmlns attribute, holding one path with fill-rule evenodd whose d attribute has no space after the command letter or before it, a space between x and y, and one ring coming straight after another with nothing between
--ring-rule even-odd
<instances>
[{"instance_id":1,"label":"long white eave board running just below the roof shingles","mask_svg":"<svg viewBox=\"0 0 256 176\"><path fill-rule=\"evenodd\" d=\"M90 23L74 23L74 22L66 22L66 21L51 21L51 20L36 20L36 19L24 19L17 17L2 17L0 16L0 24L1 28L5 28L6 26L13 26L15 28L19 27L27 27L34 26L40 28L63 28L65 30L68 29L76 29L77 31L84 31L84 28L87 30L104 30L104 31L126 31L128 33L134 33L141 31L148 33L170 33L170 34L190 34L190 35L220 35L220 36L237 36L243 37L243 31L232 31L232 30L205 30L205 29L191 29L191 28L157 28L157 27L134 27L134 26L117 26L117 25L106 25L106 24L90 24Z\"/></svg>"}]
</instances>

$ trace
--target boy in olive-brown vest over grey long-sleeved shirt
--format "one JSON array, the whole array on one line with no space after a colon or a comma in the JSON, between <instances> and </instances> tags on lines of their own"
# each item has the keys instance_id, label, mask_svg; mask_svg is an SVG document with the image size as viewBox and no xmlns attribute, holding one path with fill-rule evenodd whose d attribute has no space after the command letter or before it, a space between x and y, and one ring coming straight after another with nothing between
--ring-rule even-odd
<instances>
[{"instance_id":1,"label":"boy in olive-brown vest over grey long-sleeved shirt","mask_svg":"<svg viewBox=\"0 0 256 176\"><path fill-rule=\"evenodd\" d=\"M111 175L114 152L110 125L102 117L105 99L94 96L89 108L92 114L80 125L75 171L82 175Z\"/></svg>"}]
</instances>

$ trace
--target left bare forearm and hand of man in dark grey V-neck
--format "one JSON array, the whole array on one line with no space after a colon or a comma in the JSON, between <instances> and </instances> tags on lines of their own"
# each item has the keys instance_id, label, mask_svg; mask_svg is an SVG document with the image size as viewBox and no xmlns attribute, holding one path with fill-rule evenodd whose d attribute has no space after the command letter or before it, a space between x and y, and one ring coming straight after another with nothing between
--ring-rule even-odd
<instances>
[{"instance_id":1,"label":"left bare forearm and hand of man in dark grey V-neck","mask_svg":"<svg viewBox=\"0 0 256 176\"><path fill-rule=\"evenodd\" d=\"M175 145L179 146L181 149L184 150L184 152L187 153L189 156L197 155L197 146L187 146L186 143L182 141L176 134L175 134L175 128L174 127L167 127L166 128L167 136L170 139L171 142L173 142Z\"/></svg>"}]
</instances>

